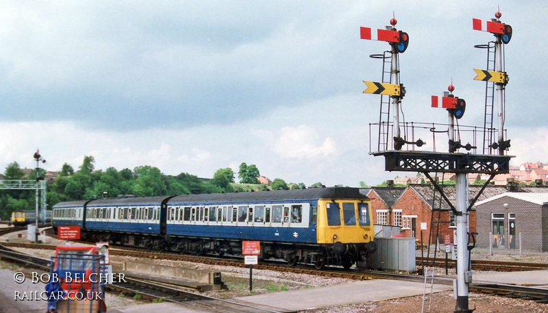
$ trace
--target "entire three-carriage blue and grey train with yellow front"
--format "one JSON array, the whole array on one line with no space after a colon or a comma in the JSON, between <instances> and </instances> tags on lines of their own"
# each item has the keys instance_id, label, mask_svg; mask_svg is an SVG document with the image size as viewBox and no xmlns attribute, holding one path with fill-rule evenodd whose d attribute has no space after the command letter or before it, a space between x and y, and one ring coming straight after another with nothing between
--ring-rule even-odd
<instances>
[{"instance_id":1,"label":"entire three-carriage blue and grey train with yellow front","mask_svg":"<svg viewBox=\"0 0 548 313\"><path fill-rule=\"evenodd\" d=\"M79 225L82 238L197 255L240 255L289 264L365 267L376 250L371 203L359 188L308 188L95 199L53 206L53 227Z\"/></svg>"}]
</instances>

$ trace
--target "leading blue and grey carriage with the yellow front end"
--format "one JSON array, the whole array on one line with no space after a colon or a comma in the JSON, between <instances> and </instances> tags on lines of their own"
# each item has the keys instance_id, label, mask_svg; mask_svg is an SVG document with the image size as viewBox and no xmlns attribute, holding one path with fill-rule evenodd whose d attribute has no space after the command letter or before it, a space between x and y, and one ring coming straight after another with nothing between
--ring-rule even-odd
<instances>
[{"instance_id":1,"label":"leading blue and grey carriage with the yellow front end","mask_svg":"<svg viewBox=\"0 0 548 313\"><path fill-rule=\"evenodd\" d=\"M358 188L182 195L167 210L169 246L184 253L241 254L242 240L260 240L262 258L320 268L365 266L375 251L369 199Z\"/></svg>"}]
</instances>

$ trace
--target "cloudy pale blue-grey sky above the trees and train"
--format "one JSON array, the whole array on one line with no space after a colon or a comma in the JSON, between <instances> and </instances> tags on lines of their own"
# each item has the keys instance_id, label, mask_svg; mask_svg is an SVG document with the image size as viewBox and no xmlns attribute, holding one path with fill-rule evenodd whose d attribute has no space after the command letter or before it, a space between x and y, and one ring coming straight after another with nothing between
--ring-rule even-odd
<instances>
[{"instance_id":1,"label":"cloudy pale blue-grey sky above the trees and train","mask_svg":"<svg viewBox=\"0 0 548 313\"><path fill-rule=\"evenodd\" d=\"M406 122L447 123L430 97L453 79L467 104L459 124L483 127L473 68L487 58L473 46L494 37L472 18L494 18L497 5L514 29L504 50L511 164L548 162L544 1L2 1L0 171L34 167L39 148L50 171L92 155L96 169L199 177L247 162L307 186L414 176L369 154L380 96L362 81L381 81L369 55L390 47L361 40L360 26L384 28L395 14L410 36L399 55Z\"/></svg>"}]
</instances>

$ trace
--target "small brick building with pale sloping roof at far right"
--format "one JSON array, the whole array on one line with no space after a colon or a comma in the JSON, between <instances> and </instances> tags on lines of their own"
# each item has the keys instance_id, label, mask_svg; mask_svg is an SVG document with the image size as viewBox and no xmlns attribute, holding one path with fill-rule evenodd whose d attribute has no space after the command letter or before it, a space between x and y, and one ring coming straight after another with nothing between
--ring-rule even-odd
<instances>
[{"instance_id":1,"label":"small brick building with pale sloping roof at far right","mask_svg":"<svg viewBox=\"0 0 548 313\"><path fill-rule=\"evenodd\" d=\"M544 189L540 189L545 191ZM548 251L548 193L507 192L475 204L477 246Z\"/></svg>"}]
</instances>

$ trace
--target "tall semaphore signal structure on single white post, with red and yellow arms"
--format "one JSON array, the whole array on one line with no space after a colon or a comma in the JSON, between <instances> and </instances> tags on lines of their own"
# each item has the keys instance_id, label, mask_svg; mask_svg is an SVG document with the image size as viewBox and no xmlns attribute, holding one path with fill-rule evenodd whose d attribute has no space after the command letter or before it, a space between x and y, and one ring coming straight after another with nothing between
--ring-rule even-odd
<instances>
[{"instance_id":1,"label":"tall semaphore signal structure on single white post, with red and yellow arms","mask_svg":"<svg viewBox=\"0 0 548 313\"><path fill-rule=\"evenodd\" d=\"M460 134L458 129L455 129L455 119L460 119L464 115L466 109L466 101L464 99L459 99L452 95L453 90L455 89L453 84L449 85L449 92L445 92L443 97L441 97L441 106L440 98L438 96L432 96L432 107L433 108L445 108L448 112L448 124L447 124L447 136L448 136L448 145L449 153L440 153L436 151L416 151L415 147L421 147L425 144L423 140L419 139L414 141L406 138L405 136L401 138L400 127L402 123L399 122L399 104L401 103L401 98L404 95L404 88L399 84L399 58L398 54L407 49L409 37L406 33L396 32L393 28L396 25L395 18L390 20L392 27L387 27L384 31L383 29L378 29L377 38L372 38L371 29L367 31L366 27L361 27L360 36L362 39L369 40L384 40L390 43L390 85L386 84L384 78L383 83L375 82L365 82L368 88L364 90L364 93L373 93L380 95L390 95L393 100L393 120L387 121L383 120L383 116L390 116L389 114L384 114L383 105L384 101L381 99L381 118L379 121L379 143L377 146L377 151L372 151L371 154L375 156L383 155L385 159L385 170L386 171L408 171L408 172L419 172L423 173L429 181L432 182L435 190L440 193L440 196L445 200L447 205L453 211L453 214L456 216L456 242L457 242L457 279L455 286L456 294L456 313L468 313L473 310L469 309L469 284L472 282L472 272L470 267L469 260L469 251L474 248L474 245L469 245L469 212L475 201L479 198L479 195L482 194L483 190L490 183L491 179L497 174L509 173L510 170L510 156L505 155L505 151L510 147L510 140L506 140L503 136L503 121L504 121L504 108L503 103L503 90L508 83L508 75L506 72L503 72L503 60L501 53L502 44L507 44L510 42L512 36L512 27L510 25L505 25L499 21L501 13L497 12L495 14L497 17L496 21L490 21L485 23L483 26L482 21L473 19L473 29L476 30L485 30L495 35L497 38L497 43L495 45L495 71L483 71L483 70L474 70L477 74L476 80L482 80L485 82L495 82L497 84L497 97L498 97L498 140L490 144L490 148L497 151L497 154L476 154L475 151L477 147L471 145L469 142L466 145L463 145L460 141L460 136L456 138L455 134ZM364 32L365 29L365 32ZM390 32L390 33L387 33ZM364 36L365 34L365 36ZM390 36L385 34L391 34ZM368 36L369 35L369 36ZM399 35L399 36L397 36ZM380 38L380 39L379 39ZM386 63L386 56L378 57L378 55L371 55L372 58L382 58L383 59L383 75L385 73L384 66ZM478 79L479 77L479 79ZM397 90L396 86L400 86L399 92L393 91L390 93L390 90ZM383 90L380 90L384 88ZM379 91L380 90L380 91ZM385 91L388 90L388 91ZM385 93L382 93L385 92ZM388 92L388 93L386 93ZM488 108L486 103L486 108ZM486 109L487 114L487 109ZM492 114L492 113L491 113ZM387 117L388 118L388 117ZM386 131L386 125L391 125L393 127L393 138L394 145L393 149L387 149L388 146L384 145L381 142L382 136L388 136L388 131ZM432 124L433 125L433 124ZM405 126L405 125L403 125ZM435 127L430 129L430 132L434 133ZM485 133L490 132L490 129L484 125L484 138ZM406 132L404 134L408 134ZM411 132L414 134L414 129ZM409 148L411 147L411 149ZM434 142L435 147L435 142ZM392 148L392 147L390 147ZM466 153L460 152L460 149L466 149ZM433 179L430 173L455 173L456 174L456 203L453 205L451 201L444 194L443 186L440 186L436 179ZM468 176L469 173L481 173L490 175L486 183L482 186L482 189L478 192L474 199L471 199L470 203L468 199ZM473 236L473 234L472 234ZM475 240L474 240L475 241Z\"/></svg>"}]
</instances>

